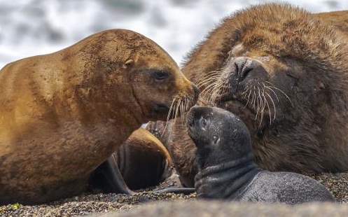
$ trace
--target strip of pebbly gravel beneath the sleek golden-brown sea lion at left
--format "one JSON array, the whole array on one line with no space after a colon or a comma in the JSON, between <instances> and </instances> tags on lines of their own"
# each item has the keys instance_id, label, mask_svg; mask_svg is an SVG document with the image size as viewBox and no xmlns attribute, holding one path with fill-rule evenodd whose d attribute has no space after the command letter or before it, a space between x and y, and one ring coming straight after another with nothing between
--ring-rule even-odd
<instances>
[{"instance_id":1,"label":"strip of pebbly gravel beneath the sleek golden-brown sea lion at left","mask_svg":"<svg viewBox=\"0 0 348 217\"><path fill-rule=\"evenodd\" d=\"M0 216L83 216L93 213L106 213L127 210L156 200L189 200L195 195L176 195L174 193L137 193L136 195L97 194L81 195L39 206L11 204L0 207Z\"/></svg>"}]
</instances>

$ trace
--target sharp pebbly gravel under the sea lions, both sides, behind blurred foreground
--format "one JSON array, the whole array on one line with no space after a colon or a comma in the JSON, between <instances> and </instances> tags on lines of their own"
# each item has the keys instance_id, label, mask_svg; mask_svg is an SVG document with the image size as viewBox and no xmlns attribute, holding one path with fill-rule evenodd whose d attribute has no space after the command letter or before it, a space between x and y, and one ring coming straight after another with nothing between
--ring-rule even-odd
<instances>
[{"instance_id":1,"label":"sharp pebbly gravel under the sea lions, both sides, behind blurred foreground","mask_svg":"<svg viewBox=\"0 0 348 217\"><path fill-rule=\"evenodd\" d=\"M344 203L344 205L348 203L348 173L309 176L323 183L323 185L333 193L338 203ZM188 202L194 202L195 194L137 193L136 195L80 195L78 197L39 206L22 206L20 204L2 206L0 207L0 216L84 216L88 214L102 215L110 211L127 214L127 211L130 209L143 207L146 204L153 205L154 202L160 205L166 204L168 201L177 202L186 200ZM331 208L336 209L336 205L337 204L333 204ZM330 207L330 204L326 205L326 207Z\"/></svg>"}]
</instances>

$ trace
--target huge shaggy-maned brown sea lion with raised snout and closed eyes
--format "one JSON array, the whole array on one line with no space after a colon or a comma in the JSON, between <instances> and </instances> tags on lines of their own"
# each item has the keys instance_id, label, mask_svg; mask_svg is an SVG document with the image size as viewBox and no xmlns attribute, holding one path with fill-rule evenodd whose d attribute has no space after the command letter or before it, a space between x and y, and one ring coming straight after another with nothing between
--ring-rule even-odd
<instances>
[{"instance_id":1,"label":"huge shaggy-maned brown sea lion with raised snout and closed eyes","mask_svg":"<svg viewBox=\"0 0 348 217\"><path fill-rule=\"evenodd\" d=\"M251 6L225 18L183 64L202 105L246 123L263 169L348 171L347 17L288 4ZM167 130L165 146L183 183L193 186L195 146L185 123L178 119Z\"/></svg>"}]
</instances>

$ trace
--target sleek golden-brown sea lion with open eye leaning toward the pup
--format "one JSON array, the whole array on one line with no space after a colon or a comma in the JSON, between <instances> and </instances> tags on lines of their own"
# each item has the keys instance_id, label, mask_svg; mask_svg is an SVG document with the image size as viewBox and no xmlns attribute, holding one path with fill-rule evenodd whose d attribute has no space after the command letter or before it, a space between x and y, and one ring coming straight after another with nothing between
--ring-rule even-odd
<instances>
[{"instance_id":1,"label":"sleek golden-brown sea lion with open eye leaning toward the pup","mask_svg":"<svg viewBox=\"0 0 348 217\"><path fill-rule=\"evenodd\" d=\"M198 95L165 50L125 29L4 66L0 92L0 204L82 193L134 130Z\"/></svg>"}]
</instances>

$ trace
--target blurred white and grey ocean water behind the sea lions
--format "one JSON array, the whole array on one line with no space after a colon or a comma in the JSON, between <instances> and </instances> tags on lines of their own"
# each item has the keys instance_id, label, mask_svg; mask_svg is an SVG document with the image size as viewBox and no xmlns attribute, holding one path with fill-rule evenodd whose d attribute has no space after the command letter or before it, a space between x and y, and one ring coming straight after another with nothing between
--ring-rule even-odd
<instances>
[{"instance_id":1,"label":"blurred white and grey ocean water behind the sea lions","mask_svg":"<svg viewBox=\"0 0 348 217\"><path fill-rule=\"evenodd\" d=\"M0 68L65 48L104 29L132 29L180 64L226 15L253 0L0 0ZM276 1L279 2L279 1ZM348 10L347 0L288 0L310 12Z\"/></svg>"}]
</instances>

